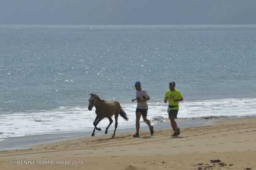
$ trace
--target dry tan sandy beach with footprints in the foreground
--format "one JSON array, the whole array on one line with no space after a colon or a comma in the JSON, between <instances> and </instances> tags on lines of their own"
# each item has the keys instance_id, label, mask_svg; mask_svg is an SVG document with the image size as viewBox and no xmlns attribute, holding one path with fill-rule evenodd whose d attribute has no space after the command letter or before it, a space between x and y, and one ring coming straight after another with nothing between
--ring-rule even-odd
<instances>
[{"instance_id":1,"label":"dry tan sandy beach with footprints in the foreground","mask_svg":"<svg viewBox=\"0 0 256 170\"><path fill-rule=\"evenodd\" d=\"M256 169L256 118L207 126L96 135L1 151L0 169Z\"/></svg>"}]
</instances>

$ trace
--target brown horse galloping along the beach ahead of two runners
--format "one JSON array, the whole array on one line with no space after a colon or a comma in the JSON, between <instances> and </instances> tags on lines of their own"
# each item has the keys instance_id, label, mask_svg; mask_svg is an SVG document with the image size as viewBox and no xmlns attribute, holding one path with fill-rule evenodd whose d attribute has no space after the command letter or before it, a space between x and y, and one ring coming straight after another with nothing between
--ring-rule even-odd
<instances>
[{"instance_id":1,"label":"brown horse galloping along the beach ahead of two runners","mask_svg":"<svg viewBox=\"0 0 256 170\"><path fill-rule=\"evenodd\" d=\"M118 115L120 114L120 116L122 116L125 120L128 120L126 113L122 110L119 102L104 101L104 100L101 100L99 96L96 94L90 94L90 95L91 97L89 99L88 110L92 110L93 106L95 106L96 108L95 113L97 115L93 122L94 130L93 130L92 136L95 135L94 134L95 129L98 131L101 131L100 128L97 128L97 125L104 117L110 120L110 124L108 125L108 127L106 127L106 130L105 130L105 134L107 134L110 125L113 123L113 120L111 117L115 114L115 130L112 135L112 137L114 137L116 133L117 124L118 124L117 123Z\"/></svg>"}]
</instances>

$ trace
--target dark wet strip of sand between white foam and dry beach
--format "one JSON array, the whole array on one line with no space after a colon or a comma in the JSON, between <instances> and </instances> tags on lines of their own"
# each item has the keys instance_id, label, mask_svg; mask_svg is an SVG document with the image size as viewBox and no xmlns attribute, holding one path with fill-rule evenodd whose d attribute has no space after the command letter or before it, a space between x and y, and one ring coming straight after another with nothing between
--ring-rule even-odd
<instances>
[{"instance_id":1,"label":"dark wet strip of sand between white foam and dry beach","mask_svg":"<svg viewBox=\"0 0 256 170\"><path fill-rule=\"evenodd\" d=\"M244 116L244 117L256 117L256 116ZM194 117L194 118L178 118L177 124L180 128L189 128L189 127L201 127L207 126L213 122L221 121L222 119L225 121L228 118L244 118L237 116L205 116L205 117ZM165 120L165 121L164 121ZM169 129L170 133L172 133L172 127L170 123L166 121L166 119L162 120L163 122L153 122L155 130L165 130ZM102 131L96 131L95 135L104 136L104 128L102 127ZM93 130L93 129L92 129ZM143 125L140 127L140 131L148 131L148 127ZM134 128L117 128L117 135L122 133L134 133ZM54 134L42 134L42 135L30 135L30 136L19 136L19 137L9 137L4 138L5 140L0 141L0 151L10 151L10 150L20 150L20 149L28 149L38 144L47 144L59 141L65 141L69 139L76 139L80 137L90 137L92 131L87 132L68 132L68 133L54 133ZM113 133L113 129L109 129L109 134Z\"/></svg>"}]
</instances>

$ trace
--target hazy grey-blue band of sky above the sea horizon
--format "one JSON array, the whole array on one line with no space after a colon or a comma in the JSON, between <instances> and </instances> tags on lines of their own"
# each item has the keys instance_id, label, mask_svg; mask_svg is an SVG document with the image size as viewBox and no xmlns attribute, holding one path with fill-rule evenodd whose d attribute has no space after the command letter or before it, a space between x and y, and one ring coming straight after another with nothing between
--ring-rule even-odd
<instances>
[{"instance_id":1,"label":"hazy grey-blue band of sky above the sea horizon","mask_svg":"<svg viewBox=\"0 0 256 170\"><path fill-rule=\"evenodd\" d=\"M256 24L256 0L0 0L0 24Z\"/></svg>"}]
</instances>

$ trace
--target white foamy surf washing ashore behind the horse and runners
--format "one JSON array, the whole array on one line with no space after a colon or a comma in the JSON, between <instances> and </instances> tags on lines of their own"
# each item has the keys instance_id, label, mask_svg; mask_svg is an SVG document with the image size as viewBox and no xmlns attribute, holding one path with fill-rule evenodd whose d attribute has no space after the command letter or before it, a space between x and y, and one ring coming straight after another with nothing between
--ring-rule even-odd
<instances>
[{"instance_id":1,"label":"white foamy surf washing ashore behind the horse and runners","mask_svg":"<svg viewBox=\"0 0 256 170\"><path fill-rule=\"evenodd\" d=\"M256 99L222 99L194 102L181 102L178 117L202 116L247 116L256 115ZM135 126L136 104L121 104L129 120L118 118L118 129ZM167 104L149 103L148 118L155 116L168 118ZM29 111L14 114L0 114L0 141L13 136L35 134L54 134L65 132L92 131L95 119L95 108L89 111L87 107L58 107L53 110ZM114 116L113 116L114 120ZM98 127L105 128L108 119L103 119ZM114 123L110 129L114 128Z\"/></svg>"}]
</instances>

